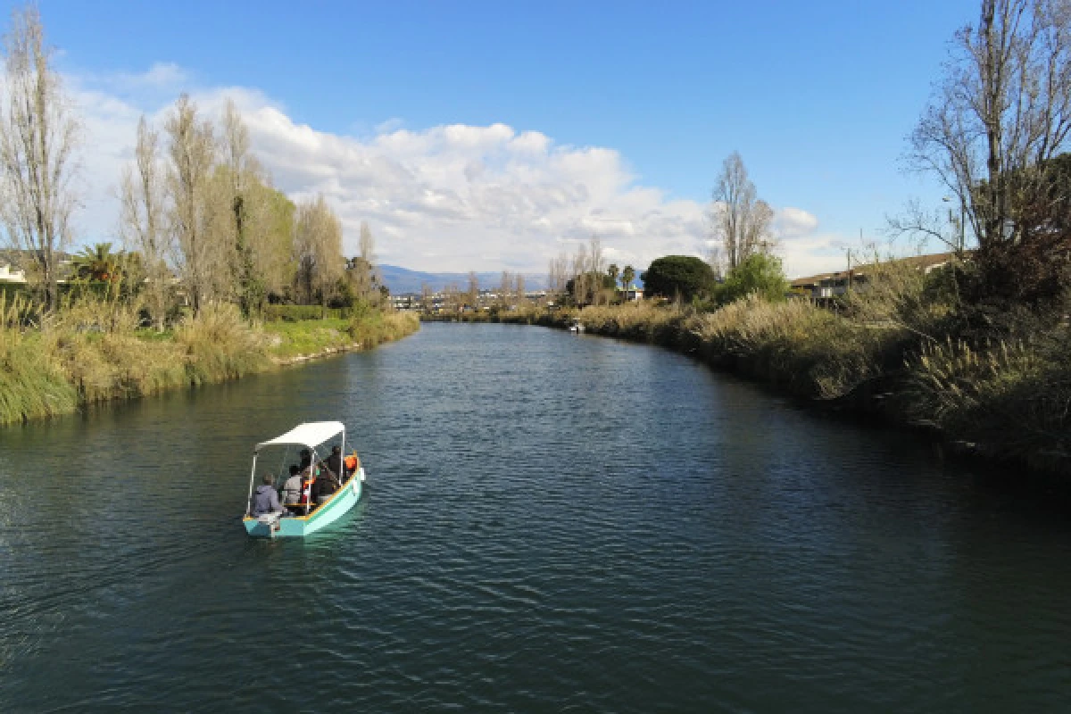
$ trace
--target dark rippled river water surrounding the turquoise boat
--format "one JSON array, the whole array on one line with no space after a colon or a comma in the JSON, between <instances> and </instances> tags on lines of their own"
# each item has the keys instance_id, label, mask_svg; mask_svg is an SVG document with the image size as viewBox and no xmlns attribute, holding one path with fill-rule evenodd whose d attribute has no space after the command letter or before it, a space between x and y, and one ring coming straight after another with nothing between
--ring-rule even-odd
<instances>
[{"instance_id":1,"label":"dark rippled river water surrounding the turquoise boat","mask_svg":"<svg viewBox=\"0 0 1071 714\"><path fill-rule=\"evenodd\" d=\"M255 542L252 445L368 488ZM0 431L0 712L1071 710L1071 527L655 348L428 324Z\"/></svg>"}]
</instances>

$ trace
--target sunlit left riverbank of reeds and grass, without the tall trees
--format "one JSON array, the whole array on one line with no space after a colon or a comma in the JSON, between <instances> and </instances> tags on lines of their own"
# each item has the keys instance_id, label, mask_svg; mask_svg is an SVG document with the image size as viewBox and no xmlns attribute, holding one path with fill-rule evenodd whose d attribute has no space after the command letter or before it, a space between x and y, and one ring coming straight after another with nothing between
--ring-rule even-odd
<instances>
[{"instance_id":1,"label":"sunlit left riverbank of reeds and grass, without the tall trees","mask_svg":"<svg viewBox=\"0 0 1071 714\"><path fill-rule=\"evenodd\" d=\"M21 322L7 314L0 323L0 425L371 349L420 328L413 315L378 310L251 324L218 305L156 332L139 329L127 307L101 302L73 305L32 329L15 326Z\"/></svg>"}]
</instances>

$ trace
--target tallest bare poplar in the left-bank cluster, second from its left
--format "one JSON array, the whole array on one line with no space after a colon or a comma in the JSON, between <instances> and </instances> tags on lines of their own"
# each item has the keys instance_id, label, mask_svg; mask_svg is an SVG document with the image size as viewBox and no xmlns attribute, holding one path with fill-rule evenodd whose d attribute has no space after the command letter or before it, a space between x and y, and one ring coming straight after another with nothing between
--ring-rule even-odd
<instances>
[{"instance_id":1,"label":"tallest bare poplar in the left-bank cluster, second from its left","mask_svg":"<svg viewBox=\"0 0 1071 714\"><path fill-rule=\"evenodd\" d=\"M213 208L209 181L215 161L212 124L201 121L197 106L185 94L179 97L164 125L170 145L167 191L168 224L178 247L177 263L194 313L215 295L230 264L228 250L213 241ZM222 273L222 274L221 274Z\"/></svg>"}]
</instances>

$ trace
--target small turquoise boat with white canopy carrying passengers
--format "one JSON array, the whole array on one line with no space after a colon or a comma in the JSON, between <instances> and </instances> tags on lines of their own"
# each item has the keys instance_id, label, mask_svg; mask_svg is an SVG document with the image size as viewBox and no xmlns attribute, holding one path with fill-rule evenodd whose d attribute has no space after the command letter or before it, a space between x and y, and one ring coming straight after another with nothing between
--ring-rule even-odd
<instances>
[{"instance_id":1,"label":"small turquoise boat with white canopy carrying passengers","mask_svg":"<svg viewBox=\"0 0 1071 714\"><path fill-rule=\"evenodd\" d=\"M337 441L340 451L346 453L346 426L342 422L310 422L299 424L286 434L261 441L253 450L253 468L250 471L250 493L245 501L245 516L242 523L245 532L255 537L302 537L310 533L330 526L345 515L353 504L361 498L361 491L365 481L364 467L357 460L357 468L343 481L342 486L328 499L320 503L302 503L299 506L287 506L287 515L281 513L269 513L254 517L250 515L252 507L253 488L257 481L257 457L265 450L281 447L283 450L282 465L280 471L284 471L286 466L296 460L290 458L293 447L307 449L312 455L312 462L319 464L321 457L317 454L317 449L325 444L333 445ZM327 446L325 452L327 453ZM357 452L352 456L356 458ZM270 472L272 473L272 472ZM278 486L288 476L288 473L276 475L274 486ZM308 488L305 487L305 501L312 501Z\"/></svg>"}]
</instances>

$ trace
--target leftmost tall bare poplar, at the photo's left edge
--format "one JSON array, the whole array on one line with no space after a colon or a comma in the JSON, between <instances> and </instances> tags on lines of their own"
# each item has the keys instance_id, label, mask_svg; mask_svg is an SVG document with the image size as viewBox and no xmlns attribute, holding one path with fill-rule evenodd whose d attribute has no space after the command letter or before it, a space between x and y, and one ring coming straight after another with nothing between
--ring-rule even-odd
<instances>
[{"instance_id":1,"label":"leftmost tall bare poplar, at the photo's left edge","mask_svg":"<svg viewBox=\"0 0 1071 714\"><path fill-rule=\"evenodd\" d=\"M73 181L79 122L52 70L52 54L35 5L12 13L4 36L4 92L0 105L0 218L7 242L28 252L44 285L45 305L57 304L59 253L71 241L76 204ZM32 275L33 272L29 271Z\"/></svg>"}]
</instances>

